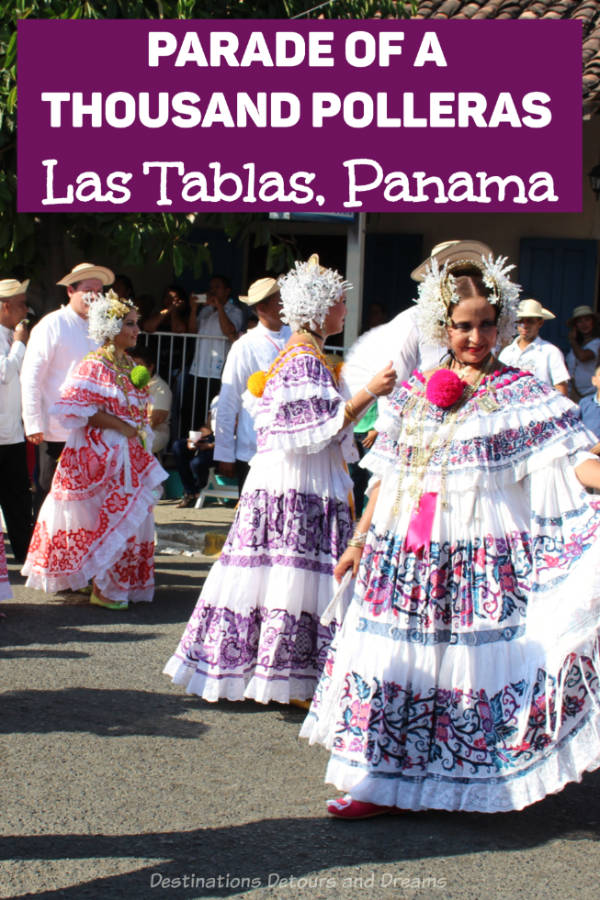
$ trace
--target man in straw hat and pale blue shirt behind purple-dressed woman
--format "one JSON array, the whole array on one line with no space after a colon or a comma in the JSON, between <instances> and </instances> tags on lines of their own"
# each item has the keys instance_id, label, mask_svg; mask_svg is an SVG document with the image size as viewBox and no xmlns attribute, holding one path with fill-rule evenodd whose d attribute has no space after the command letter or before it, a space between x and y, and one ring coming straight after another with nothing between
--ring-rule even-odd
<instances>
[{"instance_id":1,"label":"man in straw hat and pale blue shirt behind purple-dressed woman","mask_svg":"<svg viewBox=\"0 0 600 900\"><path fill-rule=\"evenodd\" d=\"M291 331L281 321L279 285L274 278L259 278L250 285L248 295L239 299L256 313L258 325L235 342L223 369L214 459L220 462L221 475L237 475L241 491L248 462L256 453L252 417L242 408L242 394L250 375L269 368L287 344Z\"/></svg>"}]
</instances>

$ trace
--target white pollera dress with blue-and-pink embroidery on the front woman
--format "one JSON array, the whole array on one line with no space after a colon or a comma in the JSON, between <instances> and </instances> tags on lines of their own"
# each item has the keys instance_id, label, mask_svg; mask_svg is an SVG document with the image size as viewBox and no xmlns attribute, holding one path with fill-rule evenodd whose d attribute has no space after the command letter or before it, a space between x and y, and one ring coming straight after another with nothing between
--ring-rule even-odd
<instances>
[{"instance_id":1,"label":"white pollera dress with blue-and-pink embroidery on the front woman","mask_svg":"<svg viewBox=\"0 0 600 900\"><path fill-rule=\"evenodd\" d=\"M600 498L574 473L595 439L514 369L456 415L424 391L395 390L363 461L379 498L301 734L357 800L521 809L600 765Z\"/></svg>"}]
</instances>

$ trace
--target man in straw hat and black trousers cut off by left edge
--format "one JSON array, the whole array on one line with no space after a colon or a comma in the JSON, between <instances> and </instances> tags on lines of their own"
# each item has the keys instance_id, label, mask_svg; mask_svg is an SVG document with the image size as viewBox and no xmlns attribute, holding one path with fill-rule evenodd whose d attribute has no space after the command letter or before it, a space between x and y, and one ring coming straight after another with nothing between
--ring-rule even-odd
<instances>
[{"instance_id":1,"label":"man in straw hat and black trousers cut off by left edge","mask_svg":"<svg viewBox=\"0 0 600 900\"><path fill-rule=\"evenodd\" d=\"M13 556L23 562L31 537L31 494L21 423L19 373L29 338L25 293L29 280L0 280L0 507Z\"/></svg>"}]
</instances>

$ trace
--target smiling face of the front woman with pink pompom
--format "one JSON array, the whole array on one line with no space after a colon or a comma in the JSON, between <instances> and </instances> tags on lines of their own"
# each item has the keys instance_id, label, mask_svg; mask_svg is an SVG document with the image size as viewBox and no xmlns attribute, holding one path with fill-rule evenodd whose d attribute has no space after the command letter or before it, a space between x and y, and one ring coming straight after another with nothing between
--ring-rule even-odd
<instances>
[{"instance_id":1,"label":"smiling face of the front woman with pink pompom","mask_svg":"<svg viewBox=\"0 0 600 900\"><path fill-rule=\"evenodd\" d=\"M496 312L485 297L469 297L454 307L448 345L459 362L478 366L489 356L498 338Z\"/></svg>"}]
</instances>

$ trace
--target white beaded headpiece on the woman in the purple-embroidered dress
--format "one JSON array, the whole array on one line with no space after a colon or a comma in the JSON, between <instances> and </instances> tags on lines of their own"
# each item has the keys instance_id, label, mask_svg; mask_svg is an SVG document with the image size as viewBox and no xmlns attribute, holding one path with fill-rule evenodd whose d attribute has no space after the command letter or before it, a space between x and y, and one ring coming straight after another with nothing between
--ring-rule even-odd
<instances>
[{"instance_id":1,"label":"white beaded headpiece on the woman in the purple-embroidered dress","mask_svg":"<svg viewBox=\"0 0 600 900\"><path fill-rule=\"evenodd\" d=\"M335 269L321 266L313 253L307 262L296 261L294 268L279 279L281 318L292 331L302 325L319 329L329 307L351 287Z\"/></svg>"}]
</instances>

